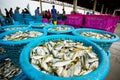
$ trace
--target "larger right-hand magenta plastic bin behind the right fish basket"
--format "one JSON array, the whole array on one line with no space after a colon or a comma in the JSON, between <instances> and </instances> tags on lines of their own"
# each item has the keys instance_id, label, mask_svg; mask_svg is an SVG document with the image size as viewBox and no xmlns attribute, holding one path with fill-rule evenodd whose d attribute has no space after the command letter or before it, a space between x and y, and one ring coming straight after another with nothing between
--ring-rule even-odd
<instances>
[{"instance_id":1,"label":"larger right-hand magenta plastic bin behind the right fish basket","mask_svg":"<svg viewBox=\"0 0 120 80\"><path fill-rule=\"evenodd\" d=\"M113 33L117 26L117 22L117 16L85 15L84 27L106 30Z\"/></svg>"}]
</instances>

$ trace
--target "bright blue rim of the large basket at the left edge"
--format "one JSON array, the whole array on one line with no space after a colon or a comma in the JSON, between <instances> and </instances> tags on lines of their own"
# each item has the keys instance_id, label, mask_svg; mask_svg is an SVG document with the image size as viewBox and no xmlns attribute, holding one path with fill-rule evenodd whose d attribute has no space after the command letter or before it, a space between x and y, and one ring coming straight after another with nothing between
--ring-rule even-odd
<instances>
[{"instance_id":1,"label":"bright blue rim of the large basket at the left edge","mask_svg":"<svg viewBox=\"0 0 120 80\"><path fill-rule=\"evenodd\" d=\"M24 30L19 30L19 31L39 31L39 32L42 32L43 34L41 36L38 36L38 37L35 37L35 38L29 38L29 39L26 39L26 40L18 40L18 41L4 41L2 40L2 38L6 35L10 35L11 33L16 33L18 31L16 30L13 30L13 31L6 31L2 34L0 34L0 44L6 44L6 45L21 45L21 44L26 44L26 43L29 43L39 37L43 37L45 35L47 35L47 32L42 30L42 29L24 29Z\"/></svg>"}]
</instances>

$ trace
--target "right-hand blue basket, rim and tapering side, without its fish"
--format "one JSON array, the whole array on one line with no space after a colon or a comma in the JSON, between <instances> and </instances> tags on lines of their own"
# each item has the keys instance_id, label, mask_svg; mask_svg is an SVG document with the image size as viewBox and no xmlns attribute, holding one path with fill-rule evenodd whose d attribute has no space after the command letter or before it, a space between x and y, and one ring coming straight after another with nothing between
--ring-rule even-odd
<instances>
[{"instance_id":1,"label":"right-hand blue basket, rim and tapering side, without its fish","mask_svg":"<svg viewBox=\"0 0 120 80\"><path fill-rule=\"evenodd\" d=\"M100 33L100 34L109 34L111 36L114 36L114 39L109 39L109 40L108 39L95 39L95 38L91 38L91 37L82 36L79 34L81 32L95 32L95 33ZM76 29L73 31L73 34L80 36L80 37L84 37L88 40L91 40L91 41L97 43L106 52L109 50L109 48L113 42L116 42L119 40L119 37L116 34L113 34L113 33L107 32L107 31L103 31L103 30L97 30L97 29L89 29L89 28Z\"/></svg>"}]
</instances>

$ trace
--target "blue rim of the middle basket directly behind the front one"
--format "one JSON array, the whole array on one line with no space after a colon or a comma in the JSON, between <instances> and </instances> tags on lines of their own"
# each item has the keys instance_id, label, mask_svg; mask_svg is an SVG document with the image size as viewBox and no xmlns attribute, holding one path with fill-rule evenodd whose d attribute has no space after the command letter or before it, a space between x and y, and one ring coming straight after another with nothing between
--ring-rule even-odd
<instances>
[{"instance_id":1,"label":"blue rim of the middle basket directly behind the front one","mask_svg":"<svg viewBox=\"0 0 120 80\"><path fill-rule=\"evenodd\" d=\"M65 26L65 27L69 27L71 28L70 30L63 30L63 31L52 31L52 30L48 30L49 28L54 28L56 26ZM46 30L48 33L69 33L72 32L74 30L73 26L69 26L69 25L53 25L53 26L48 26L48 27L44 27L44 30Z\"/></svg>"}]
</instances>

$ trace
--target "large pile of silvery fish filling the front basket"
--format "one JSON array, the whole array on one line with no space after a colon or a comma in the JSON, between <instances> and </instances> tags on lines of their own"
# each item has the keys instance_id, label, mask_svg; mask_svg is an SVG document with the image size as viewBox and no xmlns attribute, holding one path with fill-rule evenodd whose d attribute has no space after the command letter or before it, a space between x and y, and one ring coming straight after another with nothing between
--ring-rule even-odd
<instances>
[{"instance_id":1,"label":"large pile of silvery fish filling the front basket","mask_svg":"<svg viewBox=\"0 0 120 80\"><path fill-rule=\"evenodd\" d=\"M72 40L49 41L35 47L30 62L37 70L59 77L83 76L99 66L91 46Z\"/></svg>"}]
</instances>

